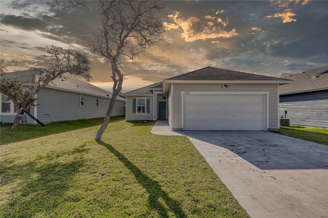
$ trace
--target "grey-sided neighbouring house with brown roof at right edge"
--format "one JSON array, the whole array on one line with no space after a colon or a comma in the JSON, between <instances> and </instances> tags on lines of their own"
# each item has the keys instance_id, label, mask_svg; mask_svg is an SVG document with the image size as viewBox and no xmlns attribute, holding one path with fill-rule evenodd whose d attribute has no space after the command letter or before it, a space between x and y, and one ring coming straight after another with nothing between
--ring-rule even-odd
<instances>
[{"instance_id":1,"label":"grey-sided neighbouring house with brown roof at right edge","mask_svg":"<svg viewBox=\"0 0 328 218\"><path fill-rule=\"evenodd\" d=\"M291 124L328 127L328 66L283 77L295 80L279 86L280 116Z\"/></svg>"}]
</instances>

